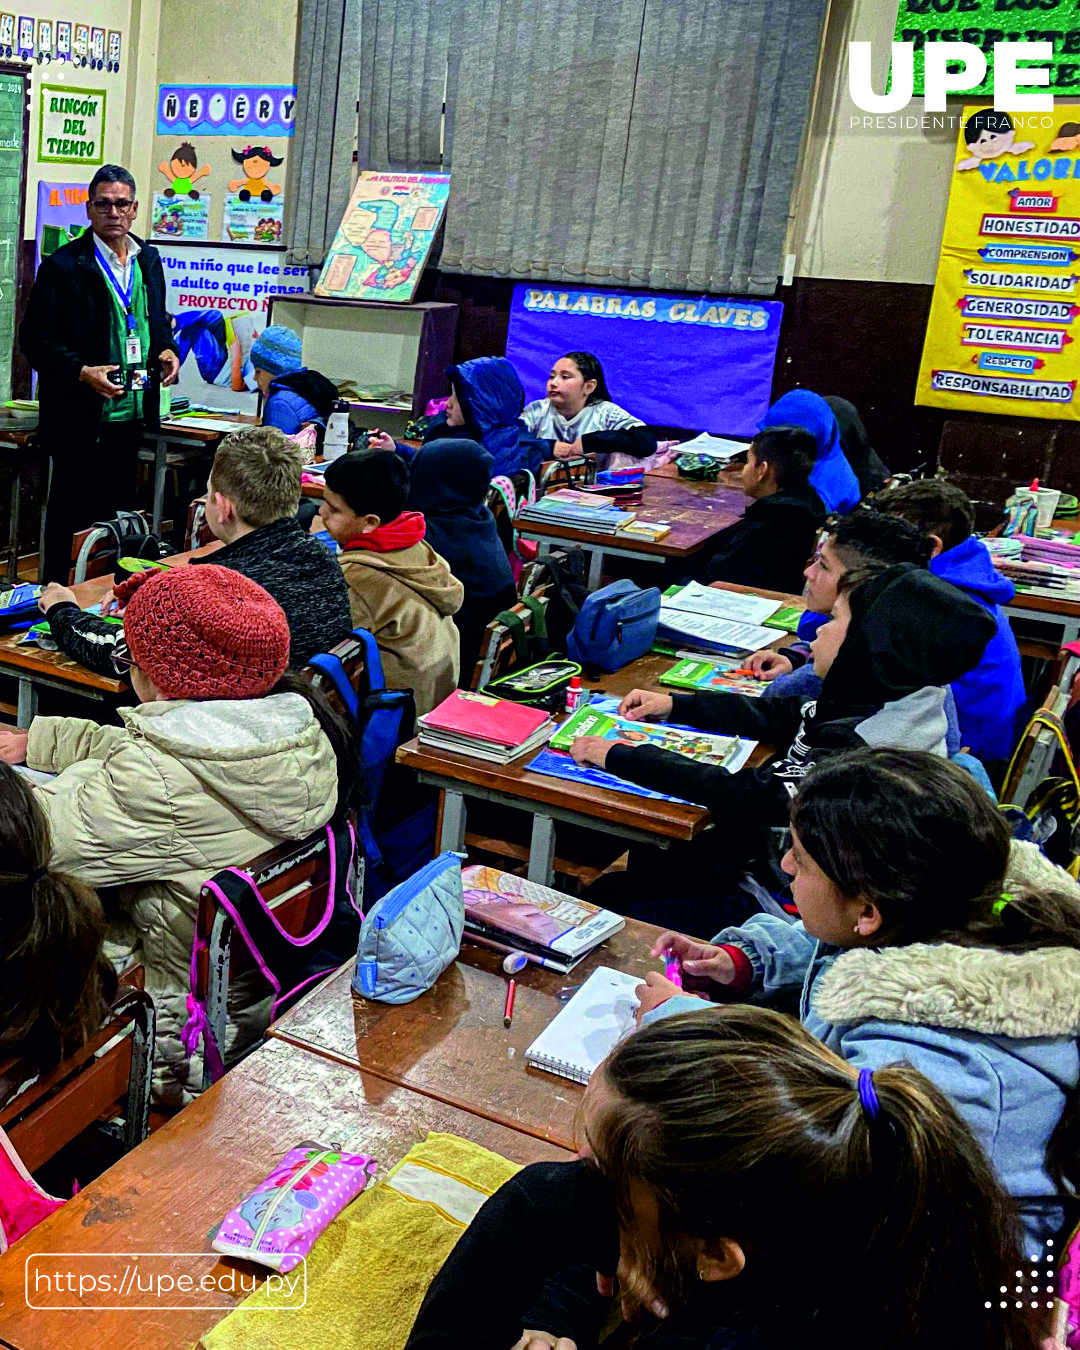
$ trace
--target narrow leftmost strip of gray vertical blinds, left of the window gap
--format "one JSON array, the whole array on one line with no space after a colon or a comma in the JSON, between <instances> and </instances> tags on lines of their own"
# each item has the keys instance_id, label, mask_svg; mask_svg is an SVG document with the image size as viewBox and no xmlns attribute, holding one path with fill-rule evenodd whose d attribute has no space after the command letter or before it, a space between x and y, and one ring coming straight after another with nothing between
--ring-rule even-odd
<instances>
[{"instance_id":1,"label":"narrow leftmost strip of gray vertical blinds, left of the window gap","mask_svg":"<svg viewBox=\"0 0 1080 1350\"><path fill-rule=\"evenodd\" d=\"M360 84L360 0L304 0L297 109L285 182L288 259L321 263L352 184Z\"/></svg>"}]
</instances>

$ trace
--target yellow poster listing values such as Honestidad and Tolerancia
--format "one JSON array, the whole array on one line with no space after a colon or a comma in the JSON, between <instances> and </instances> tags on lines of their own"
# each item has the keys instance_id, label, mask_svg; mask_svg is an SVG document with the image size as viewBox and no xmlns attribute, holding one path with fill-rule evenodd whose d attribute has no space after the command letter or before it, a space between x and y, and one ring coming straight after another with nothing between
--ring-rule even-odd
<instances>
[{"instance_id":1,"label":"yellow poster listing values such as Honestidad and Tolerancia","mask_svg":"<svg viewBox=\"0 0 1080 1350\"><path fill-rule=\"evenodd\" d=\"M917 404L1080 420L1079 119L964 108Z\"/></svg>"}]
</instances>

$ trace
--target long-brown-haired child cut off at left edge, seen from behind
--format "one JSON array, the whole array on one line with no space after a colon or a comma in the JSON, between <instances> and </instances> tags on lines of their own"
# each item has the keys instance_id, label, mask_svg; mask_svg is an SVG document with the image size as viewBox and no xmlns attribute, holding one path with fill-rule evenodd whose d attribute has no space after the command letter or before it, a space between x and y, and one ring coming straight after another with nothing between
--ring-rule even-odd
<instances>
[{"instance_id":1,"label":"long-brown-haired child cut off at left edge, seen from behind","mask_svg":"<svg viewBox=\"0 0 1080 1350\"><path fill-rule=\"evenodd\" d=\"M116 973L101 952L94 892L53 863L49 819L30 782L0 764L0 1060L49 1073L101 1026ZM0 1100L20 1083L0 1080Z\"/></svg>"}]
</instances>

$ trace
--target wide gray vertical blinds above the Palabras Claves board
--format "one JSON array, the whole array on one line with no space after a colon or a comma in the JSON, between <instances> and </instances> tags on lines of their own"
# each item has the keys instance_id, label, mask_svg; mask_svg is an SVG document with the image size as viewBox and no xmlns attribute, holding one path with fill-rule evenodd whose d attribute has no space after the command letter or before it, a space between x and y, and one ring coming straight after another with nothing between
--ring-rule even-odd
<instances>
[{"instance_id":1,"label":"wide gray vertical blinds above the Palabras Claves board","mask_svg":"<svg viewBox=\"0 0 1080 1350\"><path fill-rule=\"evenodd\" d=\"M767 294L826 0L458 0L446 271Z\"/></svg>"}]
</instances>

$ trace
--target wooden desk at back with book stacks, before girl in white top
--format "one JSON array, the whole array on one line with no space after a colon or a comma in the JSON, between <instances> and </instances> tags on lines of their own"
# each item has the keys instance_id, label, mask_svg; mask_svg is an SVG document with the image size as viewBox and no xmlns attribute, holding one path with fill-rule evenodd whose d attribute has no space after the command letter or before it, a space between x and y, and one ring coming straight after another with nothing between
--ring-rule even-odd
<instances>
[{"instance_id":1,"label":"wooden desk at back with book stacks, before girl in white top","mask_svg":"<svg viewBox=\"0 0 1080 1350\"><path fill-rule=\"evenodd\" d=\"M601 583L605 554L652 563L663 563L667 558L690 558L699 552L713 535L741 520L748 501L749 498L737 489L695 483L656 473L645 475L644 502L633 510L639 520L663 521L671 525L671 533L663 539L636 539L624 533L598 535L579 525L555 525L520 518L514 521L514 529L521 539L536 540L541 555L555 543L578 544L590 555L589 589L595 590Z\"/></svg>"}]
</instances>

